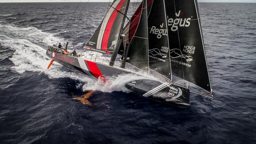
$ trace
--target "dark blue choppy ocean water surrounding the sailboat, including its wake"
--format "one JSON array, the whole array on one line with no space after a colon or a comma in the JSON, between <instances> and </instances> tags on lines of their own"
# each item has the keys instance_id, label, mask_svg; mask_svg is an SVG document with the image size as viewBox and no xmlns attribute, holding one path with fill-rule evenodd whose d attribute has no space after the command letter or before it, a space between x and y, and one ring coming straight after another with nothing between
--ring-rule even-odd
<instances>
[{"instance_id":1,"label":"dark blue choppy ocean water surrounding the sailboat, including its wake","mask_svg":"<svg viewBox=\"0 0 256 144\"><path fill-rule=\"evenodd\" d=\"M256 143L255 3L199 3L215 99L191 94L190 108L47 70L67 24L62 41L82 50L108 8L85 4L0 3L0 143ZM89 90L91 105L73 99Z\"/></svg>"}]
</instances>

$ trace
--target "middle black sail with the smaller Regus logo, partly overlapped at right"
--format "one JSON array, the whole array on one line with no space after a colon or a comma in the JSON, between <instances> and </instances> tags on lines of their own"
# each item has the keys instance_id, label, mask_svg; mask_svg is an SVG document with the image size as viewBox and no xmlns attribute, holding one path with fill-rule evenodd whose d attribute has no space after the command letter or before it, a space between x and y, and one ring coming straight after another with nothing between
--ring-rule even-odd
<instances>
[{"instance_id":1,"label":"middle black sail with the smaller Regus logo, partly overlapped at right","mask_svg":"<svg viewBox=\"0 0 256 144\"><path fill-rule=\"evenodd\" d=\"M172 79L164 0L155 0L148 13L149 68Z\"/></svg>"}]
</instances>

